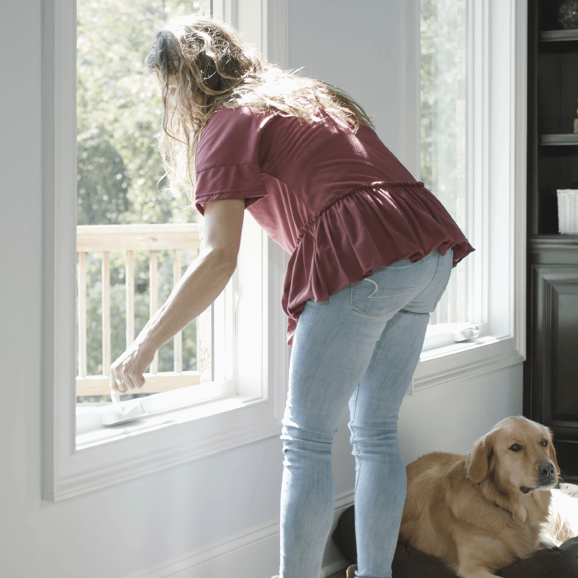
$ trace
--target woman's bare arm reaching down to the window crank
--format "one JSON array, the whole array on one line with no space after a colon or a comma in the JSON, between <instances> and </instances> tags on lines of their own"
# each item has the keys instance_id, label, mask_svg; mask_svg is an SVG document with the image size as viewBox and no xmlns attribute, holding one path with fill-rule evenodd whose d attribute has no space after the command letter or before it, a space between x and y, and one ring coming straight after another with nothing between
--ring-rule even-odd
<instances>
[{"instance_id":1,"label":"woman's bare arm reaching down to the window crank","mask_svg":"<svg viewBox=\"0 0 578 578\"><path fill-rule=\"evenodd\" d=\"M206 203L199 256L135 342L112 364L112 389L124 393L142 387L144 370L155 351L198 317L223 291L237 264L243 211L243 200Z\"/></svg>"}]
</instances>

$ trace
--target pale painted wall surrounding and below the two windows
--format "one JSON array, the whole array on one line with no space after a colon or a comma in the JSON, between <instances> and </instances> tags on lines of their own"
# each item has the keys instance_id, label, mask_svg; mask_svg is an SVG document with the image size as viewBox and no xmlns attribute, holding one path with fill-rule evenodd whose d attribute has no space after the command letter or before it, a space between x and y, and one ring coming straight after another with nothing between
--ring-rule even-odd
<instances>
[{"instance_id":1,"label":"pale painted wall surrounding and below the two windows","mask_svg":"<svg viewBox=\"0 0 578 578\"><path fill-rule=\"evenodd\" d=\"M306 65L348 90L375 115L395 151L392 143L402 139L395 114L401 2L331 2L327 18L320 17L321 4L329 2L290 2L290 65ZM352 4L382 12L355 27L363 14L351 13ZM278 562L278 438L64 502L40 499L40 17L40 0L0 2L0 576L268 578ZM313 25L315 34L304 36ZM347 65L336 64L332 53L349 52L336 34L346 25L357 35L353 45L373 48L365 60L351 55ZM387 34L376 35L382 28ZM360 88L364 67L388 66L379 94ZM516 366L406 398L400 418L406 458L462 449L500 418L521 413L521 383ZM337 494L353 488L345 423L344 416L335 443Z\"/></svg>"}]
</instances>

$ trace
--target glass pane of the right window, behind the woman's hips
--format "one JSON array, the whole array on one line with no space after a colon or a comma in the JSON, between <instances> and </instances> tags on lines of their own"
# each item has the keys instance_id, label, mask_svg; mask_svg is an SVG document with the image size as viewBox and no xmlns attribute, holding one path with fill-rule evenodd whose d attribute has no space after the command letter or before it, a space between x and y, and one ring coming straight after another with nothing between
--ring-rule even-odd
<instances>
[{"instance_id":1,"label":"glass pane of the right window, behind the woman's hips","mask_svg":"<svg viewBox=\"0 0 578 578\"><path fill-rule=\"evenodd\" d=\"M466 0L421 0L421 180L464 234L466 182ZM431 325L467 321L466 266L454 268Z\"/></svg>"}]
</instances>

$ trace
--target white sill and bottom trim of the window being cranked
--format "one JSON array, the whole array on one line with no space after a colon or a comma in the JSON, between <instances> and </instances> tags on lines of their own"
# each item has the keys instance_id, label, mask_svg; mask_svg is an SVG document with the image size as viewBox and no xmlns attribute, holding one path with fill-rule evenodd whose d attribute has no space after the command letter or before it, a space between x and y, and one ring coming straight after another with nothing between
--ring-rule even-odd
<instances>
[{"instance_id":1,"label":"white sill and bottom trim of the window being cranked","mask_svg":"<svg viewBox=\"0 0 578 578\"><path fill-rule=\"evenodd\" d=\"M275 402L239 395L79 433L72 454L58 454L54 501L279 435ZM144 425L144 427L143 427Z\"/></svg>"}]
</instances>

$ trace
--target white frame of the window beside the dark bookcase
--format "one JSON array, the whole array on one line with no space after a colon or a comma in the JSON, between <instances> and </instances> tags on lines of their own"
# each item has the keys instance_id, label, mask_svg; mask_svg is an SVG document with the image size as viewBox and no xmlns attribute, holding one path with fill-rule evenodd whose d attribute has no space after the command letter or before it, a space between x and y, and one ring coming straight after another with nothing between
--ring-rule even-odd
<instances>
[{"instance_id":1,"label":"white frame of the window beside the dark bookcase","mask_svg":"<svg viewBox=\"0 0 578 578\"><path fill-rule=\"evenodd\" d=\"M420 2L406 4L419 37ZM525 360L527 3L468 0L468 42L468 299L483 331L424 349L409 394Z\"/></svg>"}]
</instances>

